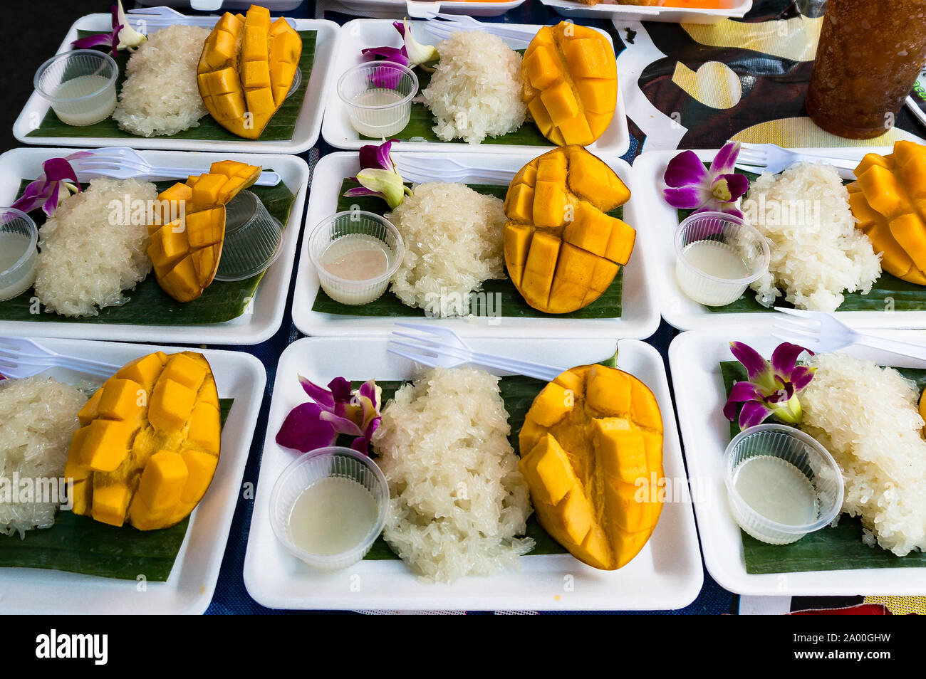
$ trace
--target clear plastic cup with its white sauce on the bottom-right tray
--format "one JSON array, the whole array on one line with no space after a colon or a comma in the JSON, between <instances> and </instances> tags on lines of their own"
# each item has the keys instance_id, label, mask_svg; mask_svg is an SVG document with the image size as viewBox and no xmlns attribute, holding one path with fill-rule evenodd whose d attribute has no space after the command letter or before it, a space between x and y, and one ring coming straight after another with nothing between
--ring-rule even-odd
<instances>
[{"instance_id":1,"label":"clear plastic cup with its white sauce on the bottom-right tray","mask_svg":"<svg viewBox=\"0 0 926 679\"><path fill-rule=\"evenodd\" d=\"M787 545L830 525L843 507L839 465L816 438L793 426L751 426L724 453L733 519L746 533Z\"/></svg>"}]
</instances>

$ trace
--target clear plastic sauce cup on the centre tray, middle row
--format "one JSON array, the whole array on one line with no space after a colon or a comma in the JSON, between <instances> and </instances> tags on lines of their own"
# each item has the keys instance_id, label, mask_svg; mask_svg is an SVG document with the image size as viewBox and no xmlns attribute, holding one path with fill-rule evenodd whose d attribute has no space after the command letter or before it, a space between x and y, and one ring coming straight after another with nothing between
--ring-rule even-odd
<instances>
[{"instance_id":1,"label":"clear plastic sauce cup on the centre tray, middle row","mask_svg":"<svg viewBox=\"0 0 926 679\"><path fill-rule=\"evenodd\" d=\"M362 210L339 212L322 220L308 238L308 255L318 273L321 289L342 304L367 304L378 299L405 256L405 243L393 223ZM386 269L381 274L364 279L341 278L325 268L326 255L336 251L343 257L354 248L369 247L369 241L382 243Z\"/></svg>"}]
</instances>

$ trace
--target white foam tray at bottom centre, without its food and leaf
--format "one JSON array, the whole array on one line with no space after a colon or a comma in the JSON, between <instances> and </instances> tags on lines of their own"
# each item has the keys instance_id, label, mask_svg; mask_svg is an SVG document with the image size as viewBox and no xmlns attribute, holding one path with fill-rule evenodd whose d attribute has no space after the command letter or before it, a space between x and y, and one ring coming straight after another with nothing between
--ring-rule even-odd
<instances>
[{"instance_id":1,"label":"white foam tray at bottom centre, without its food and leaf","mask_svg":"<svg viewBox=\"0 0 926 679\"><path fill-rule=\"evenodd\" d=\"M275 437L286 414L306 401L297 380L319 384L332 377L407 379L414 365L386 351L386 339L299 339L283 352L270 404L267 439L260 462L251 532L244 558L244 585L264 606L277 609L389 609L399 611L544 610L631 611L678 609L701 589L704 572L698 553L691 503L667 502L653 537L626 566L599 571L569 554L528 556L520 571L491 577L467 577L453 585L433 585L412 574L400 561L363 561L343 571L322 572L297 560L273 535L269 495L283 468L298 453L279 446ZM609 339L474 339L480 352L517 355L521 359L572 366L601 361L614 352ZM659 353L632 339L619 342L619 367L653 390L665 424L665 473L682 481L685 471L666 370Z\"/></svg>"}]
</instances>

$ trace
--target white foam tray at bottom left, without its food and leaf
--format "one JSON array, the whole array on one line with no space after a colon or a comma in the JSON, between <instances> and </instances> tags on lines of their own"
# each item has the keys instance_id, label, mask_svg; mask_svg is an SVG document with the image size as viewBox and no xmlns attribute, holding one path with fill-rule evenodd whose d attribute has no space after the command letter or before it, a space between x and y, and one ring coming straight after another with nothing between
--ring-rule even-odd
<instances>
[{"instance_id":1,"label":"white foam tray at bottom left, without its food and leaf","mask_svg":"<svg viewBox=\"0 0 926 679\"><path fill-rule=\"evenodd\" d=\"M43 339L56 352L125 364L151 352L181 352L175 347L74 339ZM219 466L187 527L177 560L165 582L142 582L64 573L39 568L0 568L0 612L4 614L180 614L203 613L219 580L219 567L241 493L244 464L257 425L267 373L243 352L201 351L212 365L219 398L234 399L222 428ZM45 373L63 381L73 372ZM82 377L86 379L85 376ZM127 528L127 530L132 530ZM15 538L5 538L15 539ZM29 535L26 536L26 544Z\"/></svg>"}]
</instances>

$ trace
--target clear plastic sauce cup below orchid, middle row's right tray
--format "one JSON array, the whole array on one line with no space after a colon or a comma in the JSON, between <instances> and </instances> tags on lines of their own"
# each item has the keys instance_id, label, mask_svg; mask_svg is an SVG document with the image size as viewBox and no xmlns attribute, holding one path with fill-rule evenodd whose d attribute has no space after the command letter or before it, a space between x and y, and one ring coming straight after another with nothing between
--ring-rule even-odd
<instances>
[{"instance_id":1,"label":"clear plastic sauce cup below orchid, middle row's right tray","mask_svg":"<svg viewBox=\"0 0 926 679\"><path fill-rule=\"evenodd\" d=\"M769 243L742 219L722 212L688 216L675 232L675 278L706 306L735 302L769 270Z\"/></svg>"}]
</instances>

